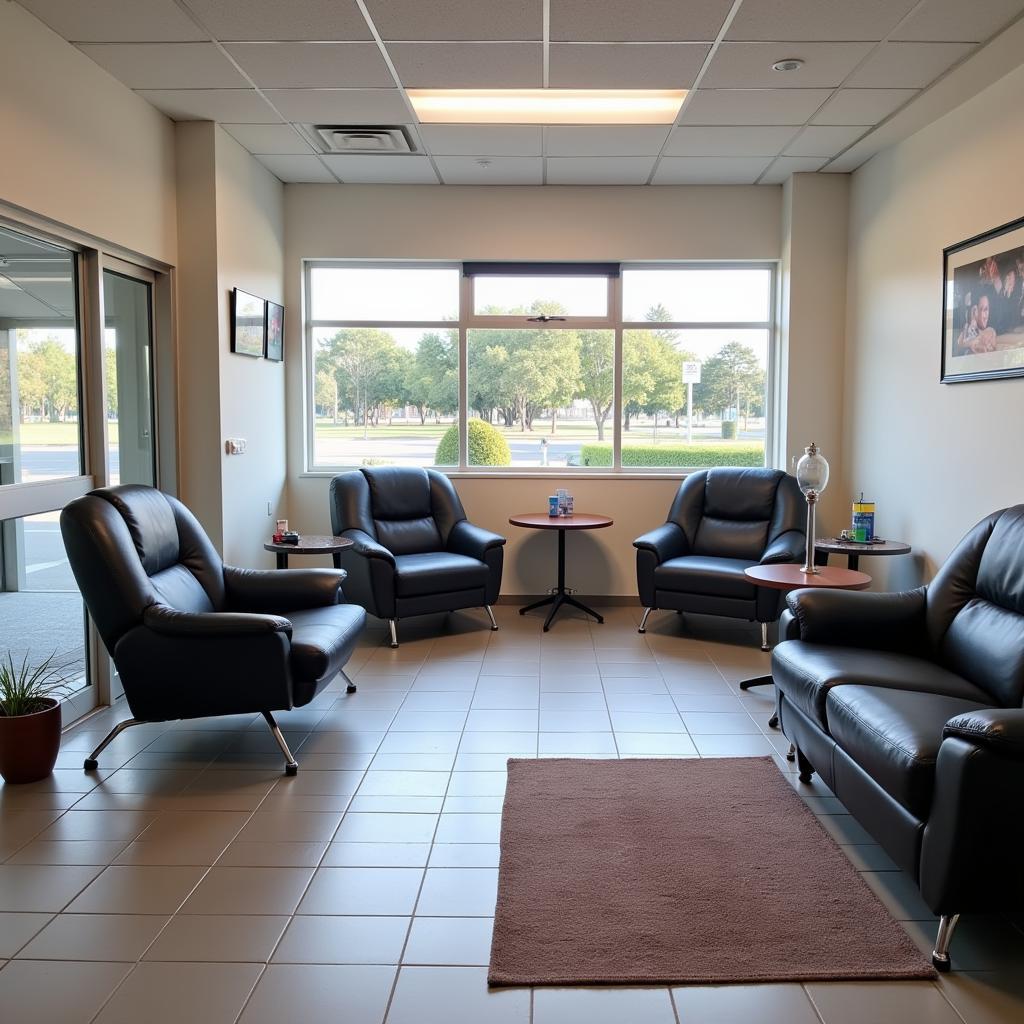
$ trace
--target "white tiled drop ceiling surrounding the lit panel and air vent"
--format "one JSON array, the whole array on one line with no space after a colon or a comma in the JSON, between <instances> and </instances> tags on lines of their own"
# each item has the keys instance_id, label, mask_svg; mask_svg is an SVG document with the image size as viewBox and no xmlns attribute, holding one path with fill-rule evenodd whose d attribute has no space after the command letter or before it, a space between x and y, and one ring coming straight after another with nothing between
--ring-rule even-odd
<instances>
[{"instance_id":1,"label":"white tiled drop ceiling surrounding the lit panel and air vent","mask_svg":"<svg viewBox=\"0 0 1024 1024\"><path fill-rule=\"evenodd\" d=\"M282 181L775 184L837 158L1024 0L19 0ZM797 72L773 62L799 57ZM691 90L675 126L420 125L407 88ZM411 155L314 124L404 125ZM864 158L866 159L866 157Z\"/></svg>"}]
</instances>

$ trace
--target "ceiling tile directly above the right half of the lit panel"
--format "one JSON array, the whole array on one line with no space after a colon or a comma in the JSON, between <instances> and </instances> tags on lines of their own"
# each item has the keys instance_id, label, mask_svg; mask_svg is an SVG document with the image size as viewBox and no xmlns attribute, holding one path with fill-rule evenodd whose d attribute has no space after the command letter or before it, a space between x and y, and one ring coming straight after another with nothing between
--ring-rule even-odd
<instances>
[{"instance_id":1,"label":"ceiling tile directly above the right half of the lit panel","mask_svg":"<svg viewBox=\"0 0 1024 1024\"><path fill-rule=\"evenodd\" d=\"M688 89L710 43L552 43L549 84L562 89Z\"/></svg>"}]
</instances>

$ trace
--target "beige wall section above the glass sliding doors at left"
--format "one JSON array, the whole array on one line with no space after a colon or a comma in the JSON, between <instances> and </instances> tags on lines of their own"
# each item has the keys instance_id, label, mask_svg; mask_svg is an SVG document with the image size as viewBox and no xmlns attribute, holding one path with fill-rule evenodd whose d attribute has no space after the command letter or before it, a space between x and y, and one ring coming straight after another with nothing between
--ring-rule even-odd
<instances>
[{"instance_id":1,"label":"beige wall section above the glass sliding doors at left","mask_svg":"<svg viewBox=\"0 0 1024 1024\"><path fill-rule=\"evenodd\" d=\"M0 200L177 262L174 125L14 3L0 3Z\"/></svg>"}]
</instances>

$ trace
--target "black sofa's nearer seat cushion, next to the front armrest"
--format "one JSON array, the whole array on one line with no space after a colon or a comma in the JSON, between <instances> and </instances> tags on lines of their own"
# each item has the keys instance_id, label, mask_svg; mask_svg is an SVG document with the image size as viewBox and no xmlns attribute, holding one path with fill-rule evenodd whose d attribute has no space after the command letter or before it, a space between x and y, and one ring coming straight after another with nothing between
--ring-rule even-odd
<instances>
[{"instance_id":1,"label":"black sofa's nearer seat cushion, next to the front armrest","mask_svg":"<svg viewBox=\"0 0 1024 1024\"><path fill-rule=\"evenodd\" d=\"M924 820L935 787L942 727L981 707L938 693L837 686L825 699L825 717L833 739L890 797Z\"/></svg>"}]
</instances>

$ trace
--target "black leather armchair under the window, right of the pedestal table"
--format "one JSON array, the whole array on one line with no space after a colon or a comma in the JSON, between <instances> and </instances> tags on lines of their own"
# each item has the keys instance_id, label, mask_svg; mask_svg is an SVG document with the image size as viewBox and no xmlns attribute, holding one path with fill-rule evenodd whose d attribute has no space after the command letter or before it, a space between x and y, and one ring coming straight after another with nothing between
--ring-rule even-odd
<instances>
[{"instance_id":1,"label":"black leather armchair under the window, right of the pedestal table","mask_svg":"<svg viewBox=\"0 0 1024 1024\"><path fill-rule=\"evenodd\" d=\"M761 623L778 618L781 592L756 587L751 565L803 562L806 506L797 481L775 469L709 469L683 480L666 523L633 542L645 606Z\"/></svg>"}]
</instances>

